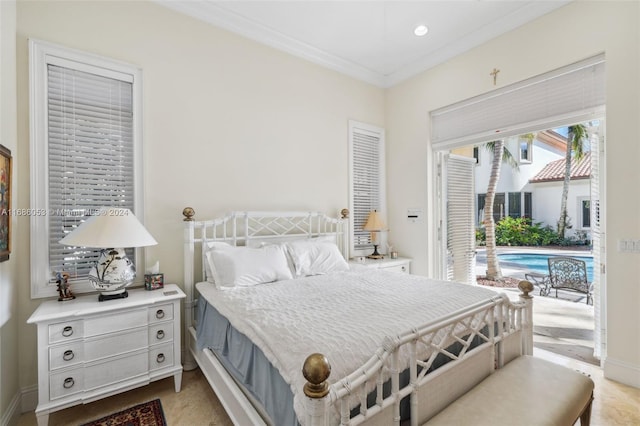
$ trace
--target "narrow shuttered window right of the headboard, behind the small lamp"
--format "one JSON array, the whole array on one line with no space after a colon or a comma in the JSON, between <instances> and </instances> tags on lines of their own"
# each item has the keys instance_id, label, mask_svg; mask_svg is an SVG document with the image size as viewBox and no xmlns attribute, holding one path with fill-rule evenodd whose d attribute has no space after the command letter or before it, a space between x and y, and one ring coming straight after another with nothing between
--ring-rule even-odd
<instances>
[{"instance_id":1,"label":"narrow shuttered window right of the headboard, behind the small lamp","mask_svg":"<svg viewBox=\"0 0 640 426\"><path fill-rule=\"evenodd\" d=\"M362 229L369 213L386 216L384 129L349 121L349 167L351 255L366 255L373 250L371 232ZM384 238L378 241L384 248Z\"/></svg>"}]
</instances>

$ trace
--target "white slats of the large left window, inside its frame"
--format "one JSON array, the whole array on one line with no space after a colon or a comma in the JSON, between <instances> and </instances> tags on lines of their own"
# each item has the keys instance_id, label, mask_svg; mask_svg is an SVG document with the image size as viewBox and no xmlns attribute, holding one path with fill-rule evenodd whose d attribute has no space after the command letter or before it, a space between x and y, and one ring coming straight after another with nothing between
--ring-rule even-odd
<instances>
[{"instance_id":1,"label":"white slats of the large left window, inside its frame","mask_svg":"<svg viewBox=\"0 0 640 426\"><path fill-rule=\"evenodd\" d=\"M121 77L47 65L52 272L66 271L74 278L88 274L98 250L59 241L97 209L135 211L133 85L130 76ZM133 250L128 255L133 256Z\"/></svg>"}]
</instances>

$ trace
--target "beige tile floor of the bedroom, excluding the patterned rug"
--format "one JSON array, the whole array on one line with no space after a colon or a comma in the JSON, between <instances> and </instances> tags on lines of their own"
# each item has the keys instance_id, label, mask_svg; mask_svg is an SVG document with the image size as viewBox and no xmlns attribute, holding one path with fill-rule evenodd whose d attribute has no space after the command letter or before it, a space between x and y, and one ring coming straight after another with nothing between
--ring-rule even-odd
<instances>
[{"instance_id":1,"label":"beige tile floor of the bedroom, excluding the patterned rug","mask_svg":"<svg viewBox=\"0 0 640 426\"><path fill-rule=\"evenodd\" d=\"M592 364L537 348L534 349L534 355L591 376L595 382L592 426L640 425L640 389L605 379L602 370ZM532 397L541 396L532 395ZM155 398L160 398L162 401L169 426L232 424L200 370L194 370L184 373L180 393L174 392L172 378L163 379L120 395L53 413L49 418L49 425L80 425ZM23 414L18 422L18 426L35 425L36 417L33 412Z\"/></svg>"}]
</instances>

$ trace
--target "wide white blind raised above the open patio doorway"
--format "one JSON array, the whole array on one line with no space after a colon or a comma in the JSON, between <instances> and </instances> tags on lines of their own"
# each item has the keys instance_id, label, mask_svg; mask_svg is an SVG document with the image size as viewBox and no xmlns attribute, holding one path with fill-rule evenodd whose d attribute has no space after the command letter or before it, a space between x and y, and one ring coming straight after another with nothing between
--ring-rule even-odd
<instances>
[{"instance_id":1,"label":"wide white blind raised above the open patio doorway","mask_svg":"<svg viewBox=\"0 0 640 426\"><path fill-rule=\"evenodd\" d=\"M592 119L604 111L604 72L599 55L435 110L432 145L449 149Z\"/></svg>"}]
</instances>

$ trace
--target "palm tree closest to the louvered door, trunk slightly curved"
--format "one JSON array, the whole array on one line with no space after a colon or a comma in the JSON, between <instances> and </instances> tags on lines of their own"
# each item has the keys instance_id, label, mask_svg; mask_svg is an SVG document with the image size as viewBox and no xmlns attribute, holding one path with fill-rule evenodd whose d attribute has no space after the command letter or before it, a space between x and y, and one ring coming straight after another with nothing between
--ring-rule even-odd
<instances>
[{"instance_id":1,"label":"palm tree closest to the louvered door, trunk slightly curved","mask_svg":"<svg viewBox=\"0 0 640 426\"><path fill-rule=\"evenodd\" d=\"M528 133L520 136L528 140L533 140L533 134ZM496 281L502 279L502 270L498 262L498 253L496 251L496 223L493 220L493 202L496 198L496 190L498 181L500 180L500 168L502 163L507 163L515 170L518 170L518 162L504 146L504 140L487 142L485 148L493 153L491 160L491 175L489 177L489 185L487 194L484 199L484 229L487 250L487 279Z\"/></svg>"}]
</instances>

